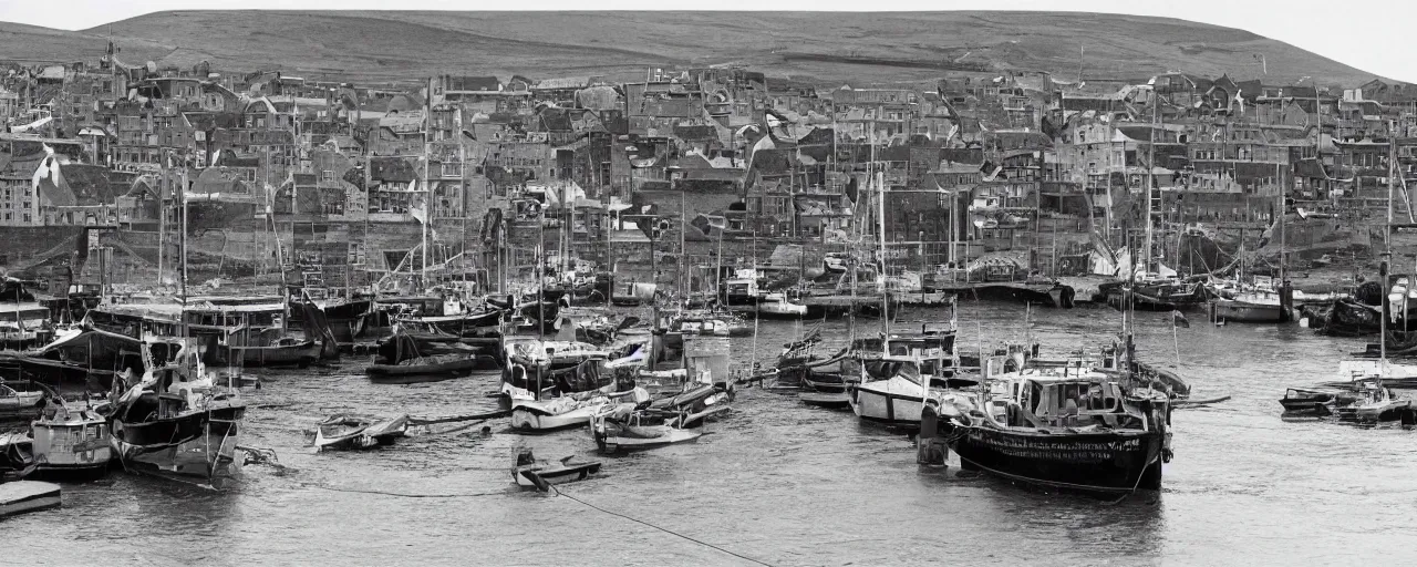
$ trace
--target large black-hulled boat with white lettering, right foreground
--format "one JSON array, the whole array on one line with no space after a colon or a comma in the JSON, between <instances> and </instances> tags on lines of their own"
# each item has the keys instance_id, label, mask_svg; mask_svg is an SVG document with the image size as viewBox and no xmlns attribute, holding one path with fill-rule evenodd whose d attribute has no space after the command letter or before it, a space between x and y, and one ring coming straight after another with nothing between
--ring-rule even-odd
<instances>
[{"instance_id":1,"label":"large black-hulled boat with white lettering, right foreground","mask_svg":"<svg viewBox=\"0 0 1417 567\"><path fill-rule=\"evenodd\" d=\"M1085 493L1159 490L1169 398L1127 380L1085 366L992 376L972 400L941 404L937 434L965 471Z\"/></svg>"}]
</instances>

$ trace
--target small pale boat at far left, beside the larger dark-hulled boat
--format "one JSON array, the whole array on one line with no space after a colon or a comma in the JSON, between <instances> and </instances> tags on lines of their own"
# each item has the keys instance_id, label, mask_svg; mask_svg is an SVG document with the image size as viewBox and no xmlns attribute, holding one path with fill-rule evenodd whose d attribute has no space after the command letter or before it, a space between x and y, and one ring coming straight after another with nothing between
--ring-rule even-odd
<instances>
[{"instance_id":1,"label":"small pale boat at far left, beside the larger dark-hulled boat","mask_svg":"<svg viewBox=\"0 0 1417 567\"><path fill-rule=\"evenodd\" d=\"M30 424L34 439L35 475L50 478L95 478L108 472L113 459L108 420L88 404L48 404Z\"/></svg>"}]
</instances>

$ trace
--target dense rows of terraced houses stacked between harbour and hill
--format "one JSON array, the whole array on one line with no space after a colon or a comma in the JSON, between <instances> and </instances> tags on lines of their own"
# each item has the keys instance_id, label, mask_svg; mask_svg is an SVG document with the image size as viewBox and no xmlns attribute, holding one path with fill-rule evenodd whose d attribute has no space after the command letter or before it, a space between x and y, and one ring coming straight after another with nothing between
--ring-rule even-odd
<instances>
[{"instance_id":1,"label":"dense rows of terraced houses stacked between harbour and hill","mask_svg":"<svg viewBox=\"0 0 1417 567\"><path fill-rule=\"evenodd\" d=\"M632 210L679 217L662 238L833 244L883 224L941 242L1041 213L1135 215L1152 187L1362 208L1417 180L1417 88L1382 81L955 72L880 88L684 68L354 85L130 65L111 45L96 62L11 65L0 118L0 228L160 231L186 210L190 234L225 231L213 254L248 241L266 262L303 234L371 272L407 265L422 227L429 261L567 224L565 245L591 249ZM1176 211L1213 220L1233 201Z\"/></svg>"}]
</instances>

